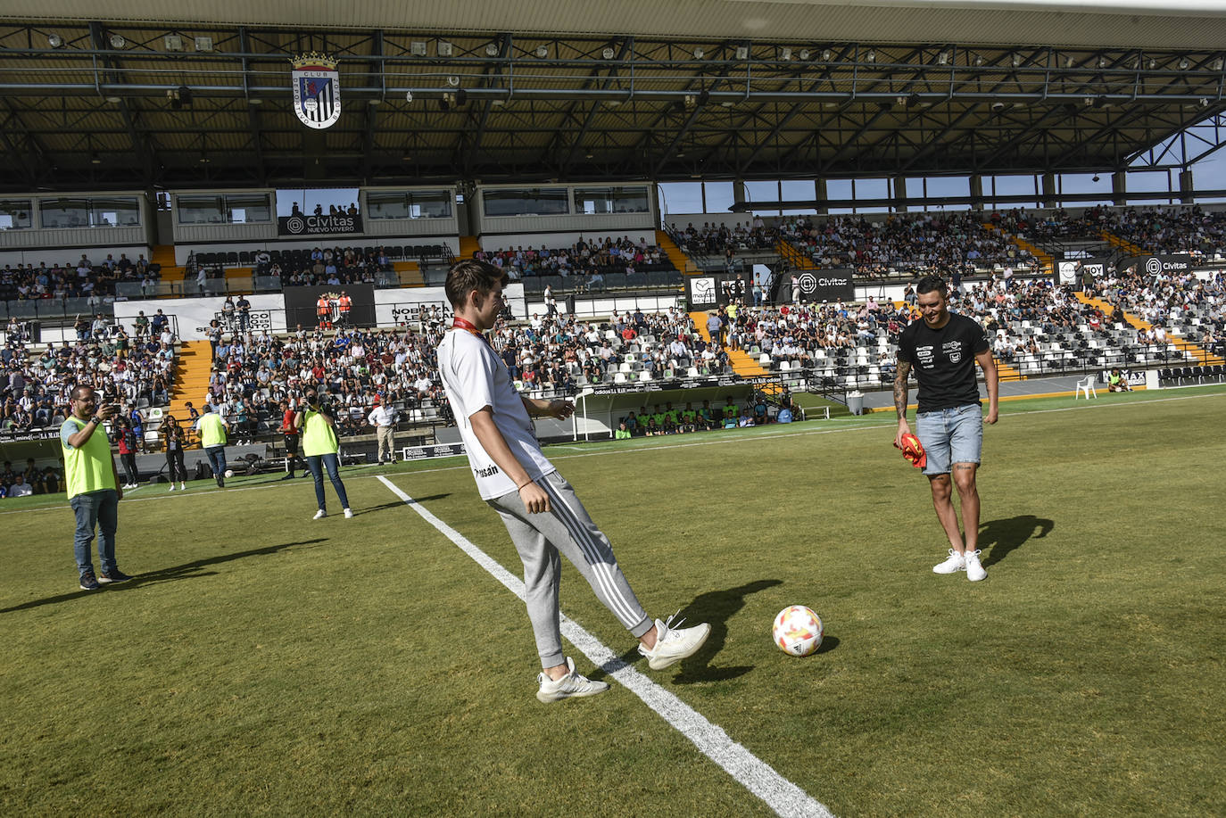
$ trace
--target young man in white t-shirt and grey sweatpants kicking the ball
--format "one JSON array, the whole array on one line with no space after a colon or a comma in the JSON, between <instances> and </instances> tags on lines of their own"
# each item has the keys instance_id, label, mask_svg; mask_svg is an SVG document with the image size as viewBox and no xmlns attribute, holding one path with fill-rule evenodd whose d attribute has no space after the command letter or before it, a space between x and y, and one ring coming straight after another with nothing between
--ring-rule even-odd
<instances>
[{"instance_id":1,"label":"young man in white t-shirt and grey sweatpants kicking the ball","mask_svg":"<svg viewBox=\"0 0 1226 818\"><path fill-rule=\"evenodd\" d=\"M565 400L522 397L506 365L490 348L485 330L503 312L505 273L476 260L447 272L446 294L455 310L452 329L439 343L439 373L468 451L477 489L511 535L524 562L528 619L541 666L541 701L595 695L608 689L575 671L563 654L558 586L564 554L591 584L596 597L639 639L639 652L652 670L693 656L711 625L678 628L647 617L618 568L608 537L596 527L562 475L541 451L531 415L565 419L575 407Z\"/></svg>"}]
</instances>

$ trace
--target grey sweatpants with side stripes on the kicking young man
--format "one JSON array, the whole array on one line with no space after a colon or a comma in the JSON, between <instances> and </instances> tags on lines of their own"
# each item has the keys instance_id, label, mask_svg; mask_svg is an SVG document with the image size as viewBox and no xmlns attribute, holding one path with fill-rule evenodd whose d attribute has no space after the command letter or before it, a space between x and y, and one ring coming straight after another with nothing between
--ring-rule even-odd
<instances>
[{"instance_id":1,"label":"grey sweatpants with side stripes on the kicking young man","mask_svg":"<svg viewBox=\"0 0 1226 818\"><path fill-rule=\"evenodd\" d=\"M553 667L566 661L562 651L562 627L558 611L558 586L562 580L562 559L566 556L592 586L604 607L618 622L639 638L655 624L639 605L622 569L613 556L608 537L596 527L587 509L579 502L575 489L558 472L537 481L549 494L552 511L528 514L519 492L487 500L506 526L515 549L524 562L524 585L528 619L536 634L541 667Z\"/></svg>"}]
</instances>

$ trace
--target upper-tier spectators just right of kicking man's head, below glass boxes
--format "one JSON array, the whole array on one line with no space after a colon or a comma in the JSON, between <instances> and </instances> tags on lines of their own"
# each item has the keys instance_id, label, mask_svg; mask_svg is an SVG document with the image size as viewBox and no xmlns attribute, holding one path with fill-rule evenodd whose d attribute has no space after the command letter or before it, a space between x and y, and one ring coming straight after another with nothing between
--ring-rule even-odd
<instances>
[{"instance_id":1,"label":"upper-tier spectators just right of kicking man's head, below glass boxes","mask_svg":"<svg viewBox=\"0 0 1226 818\"><path fill-rule=\"evenodd\" d=\"M505 250L478 250L474 259L506 270L512 281L532 276L581 276L590 283L614 272L676 270L668 255L646 238L635 242L628 235L580 238L569 248L517 247Z\"/></svg>"}]
</instances>

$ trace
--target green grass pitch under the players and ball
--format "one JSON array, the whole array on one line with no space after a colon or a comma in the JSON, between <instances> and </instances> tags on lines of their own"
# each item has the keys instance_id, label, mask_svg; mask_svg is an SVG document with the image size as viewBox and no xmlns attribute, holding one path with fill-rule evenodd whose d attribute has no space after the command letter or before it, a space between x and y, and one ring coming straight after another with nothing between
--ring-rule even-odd
<instances>
[{"instance_id":1,"label":"green grass pitch under the players and ball","mask_svg":"<svg viewBox=\"0 0 1226 818\"><path fill-rule=\"evenodd\" d=\"M549 455L649 612L712 636L635 666L836 816L1226 813L1226 389L1007 402L980 472L987 581L938 576L888 415ZM522 603L463 462L145 487L136 581L76 590L63 497L0 503L0 813L754 816L615 684L542 705ZM770 640L790 603L819 654ZM633 640L568 567L563 611ZM598 668L574 652L582 672Z\"/></svg>"}]
</instances>

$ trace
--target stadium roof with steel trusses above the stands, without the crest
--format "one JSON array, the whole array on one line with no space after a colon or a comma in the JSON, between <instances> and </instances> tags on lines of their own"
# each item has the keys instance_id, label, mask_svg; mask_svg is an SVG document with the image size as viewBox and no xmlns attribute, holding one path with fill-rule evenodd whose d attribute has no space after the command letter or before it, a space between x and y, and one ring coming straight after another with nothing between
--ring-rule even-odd
<instances>
[{"instance_id":1,"label":"stadium roof with steel trusses above the stands, without the crest","mask_svg":"<svg viewBox=\"0 0 1226 818\"><path fill-rule=\"evenodd\" d=\"M1224 59L1219 0L9 0L0 189L1178 167L1226 143Z\"/></svg>"}]
</instances>

